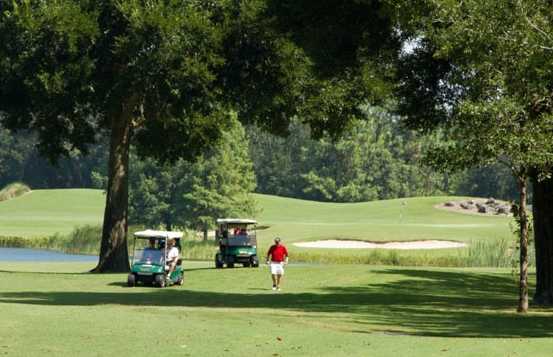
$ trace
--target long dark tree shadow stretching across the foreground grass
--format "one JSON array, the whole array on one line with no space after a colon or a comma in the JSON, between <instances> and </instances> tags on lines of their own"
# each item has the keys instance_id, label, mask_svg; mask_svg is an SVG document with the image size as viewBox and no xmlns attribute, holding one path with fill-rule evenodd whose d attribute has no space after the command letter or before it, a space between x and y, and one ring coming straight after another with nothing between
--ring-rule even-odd
<instances>
[{"instance_id":1,"label":"long dark tree shadow stretching across the foreground grass","mask_svg":"<svg viewBox=\"0 0 553 357\"><path fill-rule=\"evenodd\" d=\"M440 337L553 337L551 314L518 315L516 284L505 274L389 269L395 279L319 293L224 293L183 288L121 292L6 292L0 303L90 306L270 308L340 313L353 332ZM344 317L345 316L345 317Z\"/></svg>"}]
</instances>

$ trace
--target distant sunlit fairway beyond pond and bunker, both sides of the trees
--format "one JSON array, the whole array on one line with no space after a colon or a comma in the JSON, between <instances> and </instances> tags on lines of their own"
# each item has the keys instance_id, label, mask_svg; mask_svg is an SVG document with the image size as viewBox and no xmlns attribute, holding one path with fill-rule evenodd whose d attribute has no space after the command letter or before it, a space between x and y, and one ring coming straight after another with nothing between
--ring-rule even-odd
<instances>
[{"instance_id":1,"label":"distant sunlit fairway beyond pond and bunker, both sides of the trees","mask_svg":"<svg viewBox=\"0 0 553 357\"><path fill-rule=\"evenodd\" d=\"M270 226L262 240L287 242L352 238L370 241L449 239L470 241L510 236L507 217L481 217L434 208L448 197L423 197L366 203L322 203L255 195L258 221ZM47 236L75 226L101 224L101 190L36 190L0 203L0 235Z\"/></svg>"}]
</instances>

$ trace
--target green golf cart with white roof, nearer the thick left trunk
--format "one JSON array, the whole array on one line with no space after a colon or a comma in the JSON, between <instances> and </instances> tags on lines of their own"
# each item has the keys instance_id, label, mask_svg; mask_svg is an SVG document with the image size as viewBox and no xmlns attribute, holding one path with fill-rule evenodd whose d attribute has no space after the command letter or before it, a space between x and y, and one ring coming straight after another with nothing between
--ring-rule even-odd
<instances>
[{"instance_id":1,"label":"green golf cart with white roof, nearer the thick left trunk","mask_svg":"<svg viewBox=\"0 0 553 357\"><path fill-rule=\"evenodd\" d=\"M175 270L167 276L169 267L166 264L168 241L175 239L175 246L181 252L180 240L182 232L145 230L136 232L133 240L133 259L131 272L127 277L127 285L135 286L139 283L158 287L168 285L182 285L182 260L177 260Z\"/></svg>"}]
</instances>

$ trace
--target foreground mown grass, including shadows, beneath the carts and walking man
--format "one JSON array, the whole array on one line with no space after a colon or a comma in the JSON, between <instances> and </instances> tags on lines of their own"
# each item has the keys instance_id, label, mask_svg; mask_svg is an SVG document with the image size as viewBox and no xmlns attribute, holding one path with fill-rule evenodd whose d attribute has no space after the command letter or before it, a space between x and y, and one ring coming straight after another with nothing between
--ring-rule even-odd
<instances>
[{"instance_id":1,"label":"foreground mown grass, including shadows, beneath the carts and walking man","mask_svg":"<svg viewBox=\"0 0 553 357\"><path fill-rule=\"evenodd\" d=\"M507 270L185 262L182 287L125 287L91 265L0 262L8 356L550 356L553 313L515 313Z\"/></svg>"}]
</instances>

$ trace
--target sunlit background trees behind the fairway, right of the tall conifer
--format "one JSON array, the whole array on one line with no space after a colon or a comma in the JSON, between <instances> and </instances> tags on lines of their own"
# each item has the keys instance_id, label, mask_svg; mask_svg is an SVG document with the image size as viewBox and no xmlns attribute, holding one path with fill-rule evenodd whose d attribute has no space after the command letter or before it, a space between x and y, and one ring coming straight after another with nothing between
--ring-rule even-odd
<instances>
[{"instance_id":1,"label":"sunlit background trees behind the fairway, right of the tall conifer","mask_svg":"<svg viewBox=\"0 0 553 357\"><path fill-rule=\"evenodd\" d=\"M383 108L365 107L365 119L337 140L310 139L300 123L286 139L251 130L258 191L297 198L362 202L447 191L444 175L421 165L427 144Z\"/></svg>"}]
</instances>

